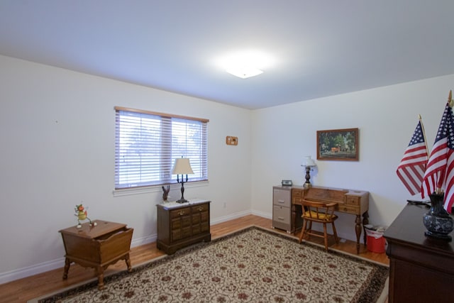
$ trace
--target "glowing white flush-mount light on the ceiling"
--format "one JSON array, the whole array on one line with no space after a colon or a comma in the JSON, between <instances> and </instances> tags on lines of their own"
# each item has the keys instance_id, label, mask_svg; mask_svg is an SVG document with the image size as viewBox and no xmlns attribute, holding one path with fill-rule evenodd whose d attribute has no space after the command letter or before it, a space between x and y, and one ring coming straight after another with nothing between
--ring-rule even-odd
<instances>
[{"instance_id":1,"label":"glowing white flush-mount light on the ceiling","mask_svg":"<svg viewBox=\"0 0 454 303\"><path fill-rule=\"evenodd\" d=\"M242 79L254 77L273 65L272 57L258 50L242 50L218 58L216 65Z\"/></svg>"}]
</instances>

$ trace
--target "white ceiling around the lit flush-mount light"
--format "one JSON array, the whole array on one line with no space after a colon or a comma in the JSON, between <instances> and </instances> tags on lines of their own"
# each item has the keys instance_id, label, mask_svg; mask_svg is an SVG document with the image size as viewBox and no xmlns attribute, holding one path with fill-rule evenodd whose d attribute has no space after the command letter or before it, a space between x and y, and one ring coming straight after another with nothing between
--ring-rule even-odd
<instances>
[{"instance_id":1,"label":"white ceiling around the lit flush-mount light","mask_svg":"<svg viewBox=\"0 0 454 303\"><path fill-rule=\"evenodd\" d=\"M0 0L1 55L247 109L454 74L453 35L453 0Z\"/></svg>"}]
</instances>

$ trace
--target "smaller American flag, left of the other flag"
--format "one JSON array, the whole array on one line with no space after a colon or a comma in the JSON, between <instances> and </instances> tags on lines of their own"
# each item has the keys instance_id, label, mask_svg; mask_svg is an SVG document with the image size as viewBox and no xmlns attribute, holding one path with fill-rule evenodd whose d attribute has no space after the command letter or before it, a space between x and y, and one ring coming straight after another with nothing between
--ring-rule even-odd
<instances>
[{"instance_id":1,"label":"smaller American flag, left of the other flag","mask_svg":"<svg viewBox=\"0 0 454 303\"><path fill-rule=\"evenodd\" d=\"M419 121L409 146L405 150L404 158L402 158L397 167L397 176L410 194L421 192L421 183L426 171L427 159L426 139L424 138L421 121Z\"/></svg>"}]
</instances>

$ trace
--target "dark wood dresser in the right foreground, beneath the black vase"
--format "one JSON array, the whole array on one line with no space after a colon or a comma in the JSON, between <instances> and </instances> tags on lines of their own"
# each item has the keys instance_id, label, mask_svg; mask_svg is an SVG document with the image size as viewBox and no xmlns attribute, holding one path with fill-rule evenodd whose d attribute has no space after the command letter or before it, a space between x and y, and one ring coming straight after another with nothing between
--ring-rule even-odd
<instances>
[{"instance_id":1,"label":"dark wood dresser in the right foreground, beneath the black vase","mask_svg":"<svg viewBox=\"0 0 454 303\"><path fill-rule=\"evenodd\" d=\"M406 205L384 232L389 303L454 302L454 243L424 236L427 211L426 206Z\"/></svg>"}]
</instances>

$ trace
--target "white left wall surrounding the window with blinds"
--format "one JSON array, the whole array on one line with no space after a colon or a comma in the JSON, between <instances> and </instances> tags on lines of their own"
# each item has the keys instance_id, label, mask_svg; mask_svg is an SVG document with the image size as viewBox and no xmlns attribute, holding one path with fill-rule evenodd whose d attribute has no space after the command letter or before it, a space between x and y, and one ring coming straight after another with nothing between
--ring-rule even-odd
<instances>
[{"instance_id":1,"label":"white left wall surrounding the window with blinds","mask_svg":"<svg viewBox=\"0 0 454 303\"><path fill-rule=\"evenodd\" d=\"M133 246L155 239L162 189L113 195L114 106L209 119L209 182L184 197L210 199L212 223L250 213L250 110L11 57L0 67L0 283L64 265L58 231L81 201L133 227Z\"/></svg>"}]
</instances>

